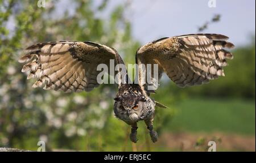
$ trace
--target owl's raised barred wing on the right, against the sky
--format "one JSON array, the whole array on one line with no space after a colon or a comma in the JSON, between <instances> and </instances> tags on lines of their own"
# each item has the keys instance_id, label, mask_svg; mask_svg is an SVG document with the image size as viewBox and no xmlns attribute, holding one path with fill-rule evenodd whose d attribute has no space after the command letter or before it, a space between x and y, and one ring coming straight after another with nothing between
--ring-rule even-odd
<instances>
[{"instance_id":1,"label":"owl's raised barred wing on the right, against the sky","mask_svg":"<svg viewBox=\"0 0 256 163\"><path fill-rule=\"evenodd\" d=\"M158 64L158 78L163 72L180 87L208 83L209 80L224 76L226 59L232 59L232 53L224 48L233 48L228 37L217 34L192 34L161 38L138 49L138 84L148 90L148 86L157 86L151 66L151 81L146 81L146 69L143 64ZM147 73L146 73L147 74Z\"/></svg>"}]
</instances>

